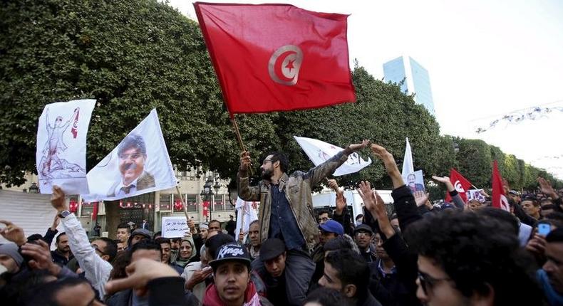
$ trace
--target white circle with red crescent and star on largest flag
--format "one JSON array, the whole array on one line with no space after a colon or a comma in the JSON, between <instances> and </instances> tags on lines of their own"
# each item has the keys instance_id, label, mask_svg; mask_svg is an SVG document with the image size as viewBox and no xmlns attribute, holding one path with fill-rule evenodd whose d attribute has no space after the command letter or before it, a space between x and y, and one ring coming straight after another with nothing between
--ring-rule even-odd
<instances>
[{"instance_id":1,"label":"white circle with red crescent and star on largest flag","mask_svg":"<svg viewBox=\"0 0 563 306\"><path fill-rule=\"evenodd\" d=\"M268 73L274 82L293 86L299 79L301 63L303 63L303 52L298 46L282 46L270 57Z\"/></svg>"}]
</instances>

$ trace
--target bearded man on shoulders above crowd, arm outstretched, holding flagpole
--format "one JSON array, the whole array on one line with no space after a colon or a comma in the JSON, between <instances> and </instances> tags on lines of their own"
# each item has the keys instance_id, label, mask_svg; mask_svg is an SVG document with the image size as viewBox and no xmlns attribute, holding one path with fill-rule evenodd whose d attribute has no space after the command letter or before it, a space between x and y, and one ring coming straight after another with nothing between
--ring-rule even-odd
<instances>
[{"instance_id":1,"label":"bearded man on shoulders above crowd, arm outstretched, holding flagpole","mask_svg":"<svg viewBox=\"0 0 563 306\"><path fill-rule=\"evenodd\" d=\"M269 154L262 162L262 181L250 186L249 152L240 156L237 174L238 193L244 201L260 201L260 239L279 238L286 244L286 286L292 292L290 305L303 305L314 262L310 250L318 241L317 223L312 213L311 188L334 173L348 155L366 147L368 140L351 144L323 164L308 172L286 172L289 160L280 153Z\"/></svg>"}]
</instances>

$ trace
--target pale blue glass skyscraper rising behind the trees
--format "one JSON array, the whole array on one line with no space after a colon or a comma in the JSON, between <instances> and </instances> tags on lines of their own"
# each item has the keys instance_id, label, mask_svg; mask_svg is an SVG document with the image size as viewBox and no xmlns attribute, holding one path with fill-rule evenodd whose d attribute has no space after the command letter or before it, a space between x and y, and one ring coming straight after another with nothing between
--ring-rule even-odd
<instances>
[{"instance_id":1,"label":"pale blue glass skyscraper rising behind the trees","mask_svg":"<svg viewBox=\"0 0 563 306\"><path fill-rule=\"evenodd\" d=\"M410 56L401 56L389 60L383 64L383 74L386 81L393 83L401 83L405 80L401 85L401 91L407 94L415 93L415 102L424 105L426 110L435 116L428 70L416 60L413 60Z\"/></svg>"}]
</instances>

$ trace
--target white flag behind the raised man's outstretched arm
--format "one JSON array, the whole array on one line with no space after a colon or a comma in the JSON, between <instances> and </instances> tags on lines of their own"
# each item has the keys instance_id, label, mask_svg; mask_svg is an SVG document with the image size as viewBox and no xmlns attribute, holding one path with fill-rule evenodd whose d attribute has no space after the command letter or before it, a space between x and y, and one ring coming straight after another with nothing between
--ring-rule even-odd
<instances>
[{"instance_id":1,"label":"white flag behind the raised man's outstretched arm","mask_svg":"<svg viewBox=\"0 0 563 306\"><path fill-rule=\"evenodd\" d=\"M341 147L336 147L335 145L327 142L321 142L321 140L318 139L297 136L294 136L294 138L315 166L319 166L319 164L326 162L343 150ZM360 157L360 154L353 152L348 156L348 160L336 169L333 175L341 176L344 174L358 172L361 169L368 167L369 164L371 164L371 159L369 157L366 162Z\"/></svg>"}]
</instances>

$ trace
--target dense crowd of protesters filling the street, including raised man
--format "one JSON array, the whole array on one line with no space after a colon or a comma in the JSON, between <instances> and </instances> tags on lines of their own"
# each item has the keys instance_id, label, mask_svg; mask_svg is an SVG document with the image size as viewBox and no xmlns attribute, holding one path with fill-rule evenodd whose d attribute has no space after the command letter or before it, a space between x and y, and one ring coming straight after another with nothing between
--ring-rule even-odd
<instances>
[{"instance_id":1,"label":"dense crowd of protesters filling the street, including raised man","mask_svg":"<svg viewBox=\"0 0 563 306\"><path fill-rule=\"evenodd\" d=\"M360 181L363 213L351 216L328 177L368 146L393 184L394 213ZM183 237L124 223L115 239L90 241L55 186L45 235L0 221L11 241L0 245L2 305L563 305L563 198L549 181L526 194L505 184L509 212L490 198L463 201L440 176L452 202L431 204L367 140L307 172L288 173L287 157L273 152L256 186L249 152L240 162L239 196L260 203L246 239L190 220ZM336 191L336 209L314 215L311 189L321 183Z\"/></svg>"}]
</instances>

